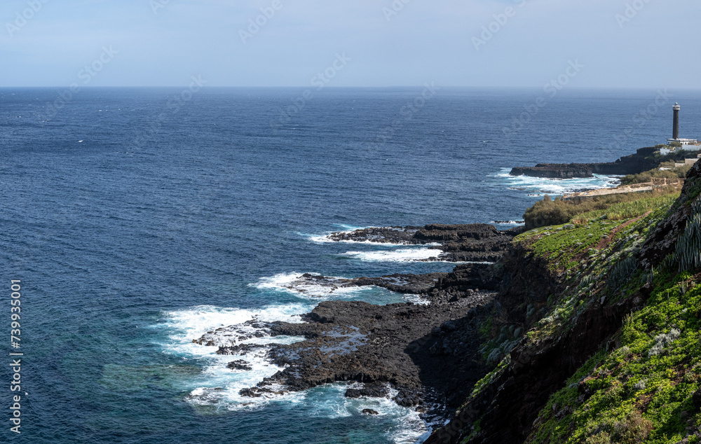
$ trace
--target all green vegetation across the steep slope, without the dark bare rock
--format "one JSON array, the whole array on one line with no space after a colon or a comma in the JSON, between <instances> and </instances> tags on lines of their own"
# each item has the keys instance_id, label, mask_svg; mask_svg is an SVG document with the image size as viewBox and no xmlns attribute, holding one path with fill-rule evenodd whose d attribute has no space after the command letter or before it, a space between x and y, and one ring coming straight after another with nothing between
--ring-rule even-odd
<instances>
[{"instance_id":1,"label":"all green vegetation across the steep slope, without the dark bare rock","mask_svg":"<svg viewBox=\"0 0 701 444\"><path fill-rule=\"evenodd\" d=\"M491 385L509 371L513 347L538 351L564 337L585 312L637 301L642 308L627 314L613 338L550 396L526 442L701 444L701 273L695 274L701 270L701 197L695 192L701 180L698 186L695 180L688 179L683 200L677 190L573 202L546 198L529 209L526 220L558 223L513 242L529 260L543 263L564 291L547 302L510 307L523 310L525 324L489 318L482 354L499 363L468 402L498 389ZM681 205L689 216L676 249L660 267L645 270L641 246ZM479 424L472 424L468 439L478 437Z\"/></svg>"}]
</instances>

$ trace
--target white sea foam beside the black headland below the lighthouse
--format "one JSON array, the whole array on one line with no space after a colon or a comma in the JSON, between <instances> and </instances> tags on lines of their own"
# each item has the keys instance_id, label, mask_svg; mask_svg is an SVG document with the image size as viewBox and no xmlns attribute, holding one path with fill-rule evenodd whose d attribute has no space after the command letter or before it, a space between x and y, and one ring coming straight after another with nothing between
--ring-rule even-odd
<instances>
[{"instance_id":1,"label":"white sea foam beside the black headland below the lighthouse","mask_svg":"<svg viewBox=\"0 0 701 444\"><path fill-rule=\"evenodd\" d=\"M620 183L618 177L604 176L602 174L594 174L594 177L580 179L545 179L541 177L510 176L510 171L508 168L503 168L501 172L494 176L503 179L510 190L526 191L529 195L533 193L538 195L562 195L583 189L614 188Z\"/></svg>"}]
</instances>

